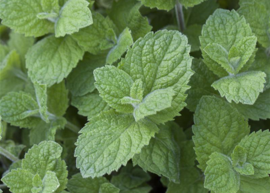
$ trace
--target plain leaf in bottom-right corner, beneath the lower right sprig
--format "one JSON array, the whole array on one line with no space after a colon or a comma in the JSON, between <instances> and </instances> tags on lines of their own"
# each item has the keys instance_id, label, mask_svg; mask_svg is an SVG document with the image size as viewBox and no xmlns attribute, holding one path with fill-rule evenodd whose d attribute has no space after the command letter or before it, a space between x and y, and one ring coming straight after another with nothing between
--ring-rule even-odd
<instances>
[{"instance_id":1,"label":"plain leaf in bottom-right corner, beneath the lower right sprig","mask_svg":"<svg viewBox=\"0 0 270 193\"><path fill-rule=\"evenodd\" d=\"M237 193L269 193L270 178L252 179L248 176L240 176L240 190Z\"/></svg>"}]
</instances>

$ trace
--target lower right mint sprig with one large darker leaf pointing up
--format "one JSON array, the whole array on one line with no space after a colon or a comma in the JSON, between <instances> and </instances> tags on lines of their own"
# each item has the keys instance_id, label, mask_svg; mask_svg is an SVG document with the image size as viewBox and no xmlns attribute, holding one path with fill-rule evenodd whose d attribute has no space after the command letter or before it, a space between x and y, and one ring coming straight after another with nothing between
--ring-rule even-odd
<instances>
[{"instance_id":1,"label":"lower right mint sprig with one large darker leaf pointing up","mask_svg":"<svg viewBox=\"0 0 270 193\"><path fill-rule=\"evenodd\" d=\"M229 103L214 96L201 98L194 122L194 149L198 167L205 171L206 188L235 193L241 183L240 175L253 179L268 176L269 131L248 135L247 120Z\"/></svg>"}]
</instances>

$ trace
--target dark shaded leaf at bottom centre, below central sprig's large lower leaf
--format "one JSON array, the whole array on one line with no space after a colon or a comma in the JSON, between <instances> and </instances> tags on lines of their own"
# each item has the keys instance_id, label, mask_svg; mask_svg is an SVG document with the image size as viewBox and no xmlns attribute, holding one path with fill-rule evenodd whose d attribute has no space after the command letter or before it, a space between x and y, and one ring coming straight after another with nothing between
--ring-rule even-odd
<instances>
[{"instance_id":1,"label":"dark shaded leaf at bottom centre, below central sprig's large lower leaf","mask_svg":"<svg viewBox=\"0 0 270 193\"><path fill-rule=\"evenodd\" d=\"M128 163L122 167L119 174L112 176L111 183L122 191L134 191L136 188L144 185L145 182L151 179L150 175L138 166L132 166Z\"/></svg>"}]
</instances>

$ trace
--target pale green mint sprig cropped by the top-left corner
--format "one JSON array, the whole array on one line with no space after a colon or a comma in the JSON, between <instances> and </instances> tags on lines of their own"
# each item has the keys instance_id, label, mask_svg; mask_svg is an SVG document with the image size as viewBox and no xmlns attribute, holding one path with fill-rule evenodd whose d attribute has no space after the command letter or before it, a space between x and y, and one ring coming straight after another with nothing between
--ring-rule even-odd
<instances>
[{"instance_id":1,"label":"pale green mint sprig cropped by the top-left corner","mask_svg":"<svg viewBox=\"0 0 270 193\"><path fill-rule=\"evenodd\" d=\"M58 0L1 1L1 19L3 24L26 36L38 37L54 32L60 37L93 24L88 5L85 0L69 0L62 8Z\"/></svg>"}]
</instances>

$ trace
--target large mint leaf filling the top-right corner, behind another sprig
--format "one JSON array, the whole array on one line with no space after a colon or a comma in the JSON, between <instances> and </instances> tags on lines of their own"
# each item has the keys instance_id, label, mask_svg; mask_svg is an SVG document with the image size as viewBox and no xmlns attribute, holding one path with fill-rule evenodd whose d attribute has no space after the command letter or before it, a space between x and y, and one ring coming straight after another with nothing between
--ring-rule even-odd
<instances>
[{"instance_id":1,"label":"large mint leaf filling the top-right corner, behind another sprig","mask_svg":"<svg viewBox=\"0 0 270 193\"><path fill-rule=\"evenodd\" d=\"M239 5L240 8L237 10L237 12L245 16L252 31L258 38L258 42L262 44L263 47L268 48L270 46L269 1L240 0Z\"/></svg>"}]
</instances>

